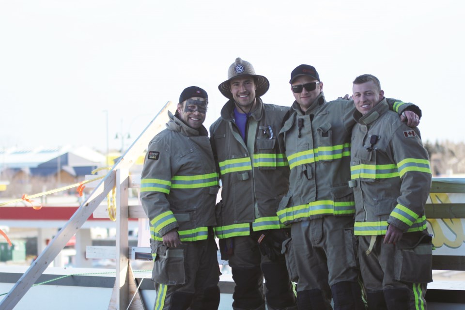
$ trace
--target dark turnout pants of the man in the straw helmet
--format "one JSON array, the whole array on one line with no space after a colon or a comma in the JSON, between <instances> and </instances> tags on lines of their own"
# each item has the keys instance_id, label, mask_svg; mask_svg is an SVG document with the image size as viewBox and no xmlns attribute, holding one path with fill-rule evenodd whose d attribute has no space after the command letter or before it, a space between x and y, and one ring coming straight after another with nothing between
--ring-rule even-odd
<instances>
[{"instance_id":1,"label":"dark turnout pants of the man in the straw helmet","mask_svg":"<svg viewBox=\"0 0 465 310\"><path fill-rule=\"evenodd\" d=\"M284 255L271 261L261 254L257 240L252 237L232 239L233 254L229 257L229 265L235 282L233 310L264 310L265 298L269 310L296 310L295 294ZM264 294L263 277L266 287Z\"/></svg>"}]
</instances>

